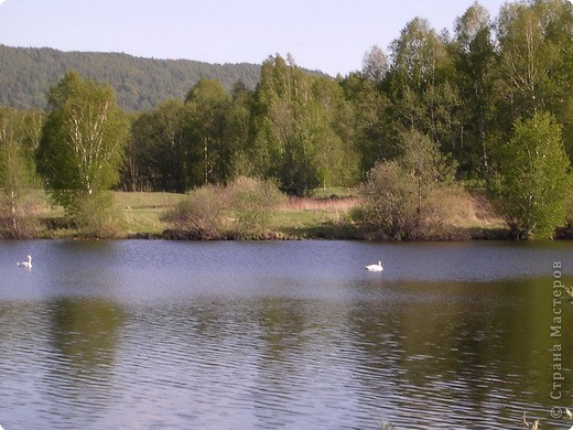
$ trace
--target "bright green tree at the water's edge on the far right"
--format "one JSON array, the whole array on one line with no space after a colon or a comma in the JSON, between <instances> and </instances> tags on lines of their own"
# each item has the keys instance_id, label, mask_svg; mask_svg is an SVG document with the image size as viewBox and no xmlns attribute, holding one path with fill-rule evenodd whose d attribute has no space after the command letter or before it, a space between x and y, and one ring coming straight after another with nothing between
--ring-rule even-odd
<instances>
[{"instance_id":1,"label":"bright green tree at the water's edge on the far right","mask_svg":"<svg viewBox=\"0 0 573 430\"><path fill-rule=\"evenodd\" d=\"M561 130L552 115L536 112L516 121L497 154L490 191L516 239L551 238L564 224L572 182Z\"/></svg>"}]
</instances>

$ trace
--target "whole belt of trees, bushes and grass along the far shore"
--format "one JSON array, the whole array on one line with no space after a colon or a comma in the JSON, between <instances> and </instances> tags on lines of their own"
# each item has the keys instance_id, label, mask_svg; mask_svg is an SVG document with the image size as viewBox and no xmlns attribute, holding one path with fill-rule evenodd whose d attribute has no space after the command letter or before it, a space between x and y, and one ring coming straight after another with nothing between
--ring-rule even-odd
<instances>
[{"instance_id":1,"label":"whole belt of trees, bushes and grass along the far shore","mask_svg":"<svg viewBox=\"0 0 573 430\"><path fill-rule=\"evenodd\" d=\"M567 237L573 6L508 2L491 18L476 2L453 29L414 18L347 76L277 54L253 88L201 78L138 111L67 71L44 109L0 108L0 234ZM334 187L350 196L312 197ZM130 193L177 202L149 204L148 230L130 224Z\"/></svg>"}]
</instances>

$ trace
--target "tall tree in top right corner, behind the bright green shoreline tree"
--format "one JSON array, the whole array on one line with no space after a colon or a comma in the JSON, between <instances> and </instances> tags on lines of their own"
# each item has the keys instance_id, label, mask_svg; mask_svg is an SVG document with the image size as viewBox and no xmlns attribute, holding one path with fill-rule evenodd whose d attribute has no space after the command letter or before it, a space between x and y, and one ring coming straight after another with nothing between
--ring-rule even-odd
<instances>
[{"instance_id":1,"label":"tall tree in top right corner, behind the bright green shoreline tree","mask_svg":"<svg viewBox=\"0 0 573 430\"><path fill-rule=\"evenodd\" d=\"M564 0L506 3L501 9L496 25L500 58L494 103L497 127L506 131L506 139L511 133L508 123L538 110L571 123L572 9Z\"/></svg>"}]
</instances>

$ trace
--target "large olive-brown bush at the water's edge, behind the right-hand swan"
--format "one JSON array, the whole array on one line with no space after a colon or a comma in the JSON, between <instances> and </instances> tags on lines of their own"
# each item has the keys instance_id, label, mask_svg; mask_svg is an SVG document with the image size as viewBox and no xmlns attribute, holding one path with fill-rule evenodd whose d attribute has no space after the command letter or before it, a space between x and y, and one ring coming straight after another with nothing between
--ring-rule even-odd
<instances>
[{"instance_id":1,"label":"large olive-brown bush at the water's edge, behind the right-hand swan","mask_svg":"<svg viewBox=\"0 0 573 430\"><path fill-rule=\"evenodd\" d=\"M402 136L402 155L375 165L354 217L371 239L418 240L450 237L447 204L458 193L453 166L428 137Z\"/></svg>"}]
</instances>

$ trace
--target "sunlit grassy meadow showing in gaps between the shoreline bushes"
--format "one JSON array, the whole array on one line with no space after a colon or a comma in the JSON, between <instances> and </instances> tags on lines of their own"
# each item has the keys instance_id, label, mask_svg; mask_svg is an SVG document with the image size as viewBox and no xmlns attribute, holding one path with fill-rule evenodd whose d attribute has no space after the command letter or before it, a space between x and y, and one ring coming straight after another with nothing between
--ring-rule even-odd
<instances>
[{"instance_id":1,"label":"sunlit grassy meadow showing in gaps between the shoreline bushes","mask_svg":"<svg viewBox=\"0 0 573 430\"><path fill-rule=\"evenodd\" d=\"M162 238L173 228L165 219L169 211L185 198L184 194L113 192L113 238ZM53 206L43 191L29 197L31 218L36 218L34 237L83 238L71 226L63 209ZM352 219L352 209L360 203L347 190L318 190L310 197L289 197L273 218L269 237L284 239L361 239ZM463 194L452 202L448 234L443 239L480 239L504 237L506 226L479 195ZM453 232L453 233L452 233Z\"/></svg>"}]
</instances>

